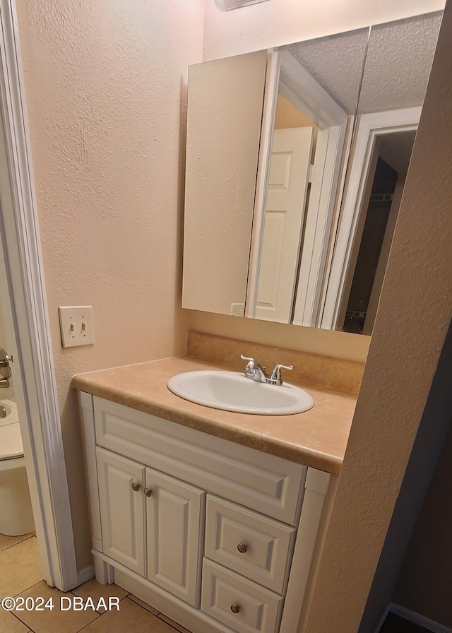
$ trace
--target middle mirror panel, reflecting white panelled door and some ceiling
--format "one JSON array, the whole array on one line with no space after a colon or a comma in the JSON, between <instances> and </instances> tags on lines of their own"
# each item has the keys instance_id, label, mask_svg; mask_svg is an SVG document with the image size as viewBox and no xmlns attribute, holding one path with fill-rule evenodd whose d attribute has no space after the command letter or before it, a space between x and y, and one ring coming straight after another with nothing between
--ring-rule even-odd
<instances>
[{"instance_id":1,"label":"middle mirror panel, reflecting white panelled door and some ceiling","mask_svg":"<svg viewBox=\"0 0 452 633\"><path fill-rule=\"evenodd\" d=\"M359 93L367 29L279 49L273 122L263 124L246 316L304 322L328 252ZM270 59L271 61L271 59ZM278 72L279 69L279 72ZM271 80L271 76L270 76ZM265 105L264 105L265 110ZM270 117L268 117L270 119ZM348 143L350 134L348 134ZM258 174L259 175L259 174ZM304 297L305 302L296 297Z\"/></svg>"}]
</instances>

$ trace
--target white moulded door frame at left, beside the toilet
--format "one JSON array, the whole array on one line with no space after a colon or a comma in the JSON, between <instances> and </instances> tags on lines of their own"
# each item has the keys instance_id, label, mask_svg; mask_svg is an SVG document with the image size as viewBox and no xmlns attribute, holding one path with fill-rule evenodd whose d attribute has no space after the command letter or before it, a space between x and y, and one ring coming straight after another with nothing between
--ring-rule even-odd
<instances>
[{"instance_id":1,"label":"white moulded door frame at left, beside the toilet","mask_svg":"<svg viewBox=\"0 0 452 633\"><path fill-rule=\"evenodd\" d=\"M0 0L1 276L20 431L44 579L78 585L33 184L16 0ZM8 173L6 173L8 172ZM1 261L0 261L1 263ZM9 302L8 302L9 299Z\"/></svg>"}]
</instances>

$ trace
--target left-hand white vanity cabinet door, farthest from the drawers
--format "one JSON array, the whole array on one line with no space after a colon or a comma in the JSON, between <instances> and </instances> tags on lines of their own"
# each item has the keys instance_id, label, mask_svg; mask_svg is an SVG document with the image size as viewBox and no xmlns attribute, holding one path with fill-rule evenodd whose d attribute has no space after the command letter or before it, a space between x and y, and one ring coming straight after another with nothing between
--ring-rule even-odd
<instances>
[{"instance_id":1,"label":"left-hand white vanity cabinet door, farthest from the drawers","mask_svg":"<svg viewBox=\"0 0 452 633\"><path fill-rule=\"evenodd\" d=\"M145 575L144 467L96 448L104 554Z\"/></svg>"}]
</instances>

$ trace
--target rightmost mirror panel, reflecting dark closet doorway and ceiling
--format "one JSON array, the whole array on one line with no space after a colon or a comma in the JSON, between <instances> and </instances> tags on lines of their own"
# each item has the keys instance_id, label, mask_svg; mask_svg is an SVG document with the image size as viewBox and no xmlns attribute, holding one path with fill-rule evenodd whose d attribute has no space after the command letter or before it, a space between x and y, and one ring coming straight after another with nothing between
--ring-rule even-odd
<instances>
[{"instance_id":1,"label":"rightmost mirror panel, reflecting dark closet doorway and ceiling","mask_svg":"<svg viewBox=\"0 0 452 633\"><path fill-rule=\"evenodd\" d=\"M323 328L371 334L441 18L371 28Z\"/></svg>"}]
</instances>

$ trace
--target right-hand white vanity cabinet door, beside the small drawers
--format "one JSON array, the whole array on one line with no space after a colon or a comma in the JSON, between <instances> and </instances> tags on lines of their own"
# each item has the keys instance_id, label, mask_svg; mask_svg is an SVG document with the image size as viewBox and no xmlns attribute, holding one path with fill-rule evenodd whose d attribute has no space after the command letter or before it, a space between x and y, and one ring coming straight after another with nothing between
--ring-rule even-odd
<instances>
[{"instance_id":1,"label":"right-hand white vanity cabinet door, beside the small drawers","mask_svg":"<svg viewBox=\"0 0 452 633\"><path fill-rule=\"evenodd\" d=\"M206 493L152 468L146 488L148 579L198 607Z\"/></svg>"}]
</instances>

